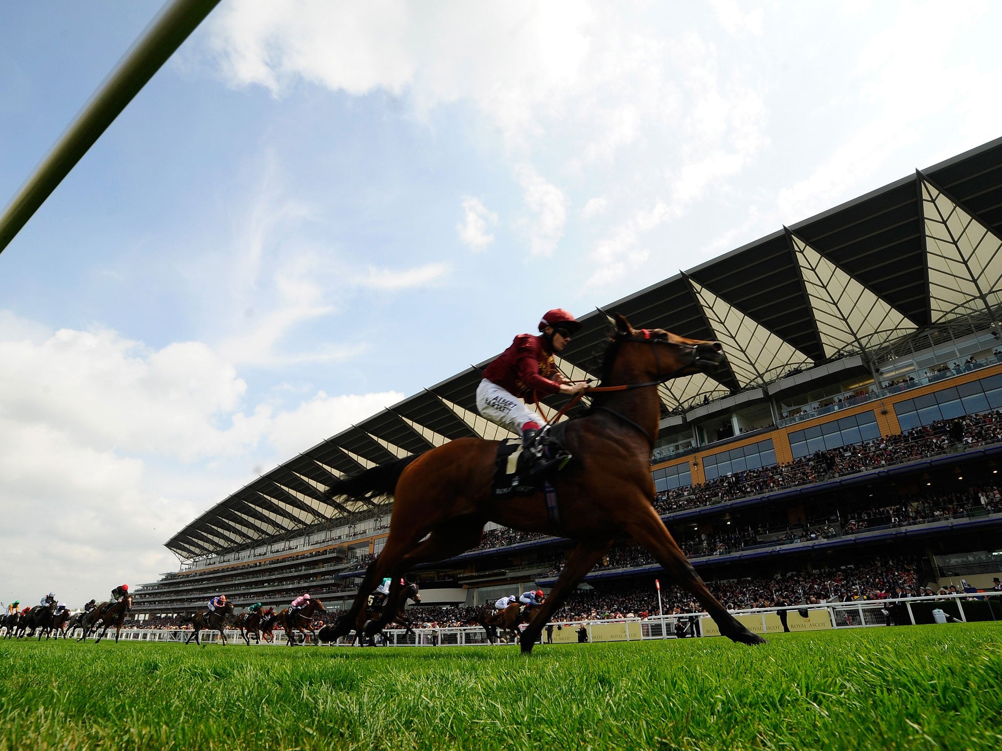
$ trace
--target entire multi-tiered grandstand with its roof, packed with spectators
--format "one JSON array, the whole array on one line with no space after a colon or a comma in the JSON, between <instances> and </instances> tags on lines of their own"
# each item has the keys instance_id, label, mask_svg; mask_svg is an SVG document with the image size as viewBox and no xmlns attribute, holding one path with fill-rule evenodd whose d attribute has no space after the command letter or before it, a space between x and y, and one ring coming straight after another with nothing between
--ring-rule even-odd
<instances>
[{"instance_id":1,"label":"entire multi-tiered grandstand with its roof, packed with spectators","mask_svg":"<svg viewBox=\"0 0 1002 751\"><path fill-rule=\"evenodd\" d=\"M848 581L887 556L911 562L916 586L1002 576L1000 238L1002 139L605 305L727 354L713 377L660 388L651 458L658 511L711 589ZM581 320L558 359L573 379L594 372L607 330L599 312ZM430 387L193 520L166 543L180 570L139 591L139 618L220 592L237 607L303 591L349 604L391 505L325 490L453 439L506 437L476 413L479 381L470 367ZM490 527L476 551L416 573L424 603L552 584L566 541ZM642 590L658 571L622 541L583 586Z\"/></svg>"}]
</instances>

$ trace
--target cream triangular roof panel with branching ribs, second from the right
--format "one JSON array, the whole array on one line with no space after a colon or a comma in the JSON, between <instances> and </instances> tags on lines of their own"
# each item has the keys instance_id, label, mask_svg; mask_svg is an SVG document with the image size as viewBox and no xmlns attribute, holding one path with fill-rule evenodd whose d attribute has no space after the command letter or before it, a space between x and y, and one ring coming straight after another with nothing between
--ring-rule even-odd
<instances>
[{"instance_id":1,"label":"cream triangular roof panel with branching ribs, second from the right","mask_svg":"<svg viewBox=\"0 0 1002 751\"><path fill-rule=\"evenodd\" d=\"M825 356L866 351L918 326L851 274L787 230Z\"/></svg>"}]
</instances>

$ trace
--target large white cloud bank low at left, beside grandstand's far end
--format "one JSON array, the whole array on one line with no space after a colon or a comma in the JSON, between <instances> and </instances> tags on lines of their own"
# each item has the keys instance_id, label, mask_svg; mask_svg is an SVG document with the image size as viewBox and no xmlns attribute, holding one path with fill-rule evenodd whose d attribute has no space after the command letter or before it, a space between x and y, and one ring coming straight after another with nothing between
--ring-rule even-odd
<instances>
[{"instance_id":1,"label":"large white cloud bank low at left, beside grandstand's far end","mask_svg":"<svg viewBox=\"0 0 1002 751\"><path fill-rule=\"evenodd\" d=\"M0 311L0 517L18 564L0 599L54 590L79 606L152 581L176 563L162 543L246 482L252 457L285 461L403 398L279 409L245 393L202 342L153 349Z\"/></svg>"}]
</instances>

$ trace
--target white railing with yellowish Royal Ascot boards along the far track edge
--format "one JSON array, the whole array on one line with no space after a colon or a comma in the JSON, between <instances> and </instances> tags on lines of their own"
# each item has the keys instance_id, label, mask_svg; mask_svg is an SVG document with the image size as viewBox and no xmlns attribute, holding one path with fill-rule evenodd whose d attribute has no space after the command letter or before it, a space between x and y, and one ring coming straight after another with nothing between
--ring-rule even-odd
<instances>
[{"instance_id":1,"label":"white railing with yellowish Royal Ascot boards along the far track edge","mask_svg":"<svg viewBox=\"0 0 1002 751\"><path fill-rule=\"evenodd\" d=\"M753 608L734 610L731 613L750 631L759 634L774 634L783 631L815 631L845 628L868 628L897 625L919 625L936 621L935 611L947 621L966 623L968 621L1002 621L1002 592L966 593L961 595L938 595L934 597L914 597L892 600L858 600L848 603L824 603L820 605L792 605L785 608ZM805 618L802 612L807 612ZM781 615L782 614L782 615ZM784 618L787 623L784 624ZM679 626L680 624L680 626ZM685 613L670 616L650 616L645 619L621 618L595 621L554 621L555 643L578 641L578 632L584 629L588 642L629 642L648 639L675 639L676 629L684 636L716 636L716 628L706 613ZM487 644L487 635L479 626L450 628L418 628L413 636L405 636L403 629L389 629L385 632L385 646L390 647L451 647ZM76 632L79 635L79 631ZM226 630L226 642L242 644L238 631ZM72 635L70 635L72 638ZM120 640L129 642L184 642L191 636L190 630L168 629L122 629ZM90 637L93 639L94 637ZM114 639L110 632L105 639ZM540 641L547 641L544 631ZM202 631L202 644L220 644L218 632ZM284 632L276 632L275 640L262 642L263 645L285 646ZM252 638L250 644L255 641ZM347 641L339 639L336 645L346 646Z\"/></svg>"}]
</instances>

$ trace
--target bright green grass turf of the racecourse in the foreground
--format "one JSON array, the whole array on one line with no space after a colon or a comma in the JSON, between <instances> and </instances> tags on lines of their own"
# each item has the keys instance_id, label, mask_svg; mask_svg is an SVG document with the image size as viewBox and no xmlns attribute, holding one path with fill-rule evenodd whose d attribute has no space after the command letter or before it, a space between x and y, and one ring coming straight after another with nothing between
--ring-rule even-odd
<instances>
[{"instance_id":1,"label":"bright green grass turf of the racecourse in the foreground","mask_svg":"<svg viewBox=\"0 0 1002 751\"><path fill-rule=\"evenodd\" d=\"M0 642L0 749L989 749L1002 624L512 647Z\"/></svg>"}]
</instances>

